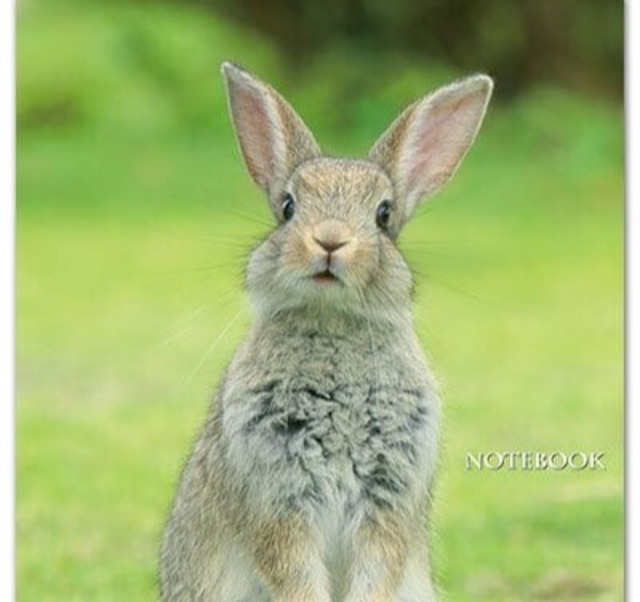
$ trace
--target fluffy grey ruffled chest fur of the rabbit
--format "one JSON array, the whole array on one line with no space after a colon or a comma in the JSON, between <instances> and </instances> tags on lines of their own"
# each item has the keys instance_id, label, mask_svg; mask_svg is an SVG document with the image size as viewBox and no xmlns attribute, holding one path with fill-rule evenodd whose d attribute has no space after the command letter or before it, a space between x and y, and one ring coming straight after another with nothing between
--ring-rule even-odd
<instances>
[{"instance_id":1,"label":"fluffy grey ruffled chest fur of the rabbit","mask_svg":"<svg viewBox=\"0 0 640 602\"><path fill-rule=\"evenodd\" d=\"M439 403L417 343L401 334L300 329L241 350L221 419L228 469L249 499L342 523L366 504L394 509L424 493Z\"/></svg>"}]
</instances>

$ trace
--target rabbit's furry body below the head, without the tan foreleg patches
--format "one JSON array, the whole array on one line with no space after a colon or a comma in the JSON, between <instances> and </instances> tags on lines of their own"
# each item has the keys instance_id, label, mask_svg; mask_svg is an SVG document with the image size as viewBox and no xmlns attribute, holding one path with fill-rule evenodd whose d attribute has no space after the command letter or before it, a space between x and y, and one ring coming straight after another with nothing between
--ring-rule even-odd
<instances>
[{"instance_id":1,"label":"rabbit's furry body below the head, without the tan foreleg patches","mask_svg":"<svg viewBox=\"0 0 640 602\"><path fill-rule=\"evenodd\" d=\"M295 516L316 548L308 570L333 592L309 600L344 600L354 536L379 513L414 529L416 569L393 599L425 600L410 592L428 584L424 511L438 415L408 324L295 314L257 324L183 475L165 546L168 599L271 600L259 570L241 560L244 539Z\"/></svg>"}]
</instances>

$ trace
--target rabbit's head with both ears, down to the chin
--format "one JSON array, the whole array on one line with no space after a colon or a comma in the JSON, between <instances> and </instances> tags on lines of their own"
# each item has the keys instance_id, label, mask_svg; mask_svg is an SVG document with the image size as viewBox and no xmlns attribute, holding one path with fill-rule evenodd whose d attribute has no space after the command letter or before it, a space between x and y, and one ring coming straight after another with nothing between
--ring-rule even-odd
<instances>
[{"instance_id":1,"label":"rabbit's head with both ears, down to the chin","mask_svg":"<svg viewBox=\"0 0 640 602\"><path fill-rule=\"evenodd\" d=\"M273 88L231 63L222 72L245 164L277 222L247 269L258 312L406 312L412 278L395 240L473 143L492 80L475 75L421 98L358 160L323 156Z\"/></svg>"}]
</instances>

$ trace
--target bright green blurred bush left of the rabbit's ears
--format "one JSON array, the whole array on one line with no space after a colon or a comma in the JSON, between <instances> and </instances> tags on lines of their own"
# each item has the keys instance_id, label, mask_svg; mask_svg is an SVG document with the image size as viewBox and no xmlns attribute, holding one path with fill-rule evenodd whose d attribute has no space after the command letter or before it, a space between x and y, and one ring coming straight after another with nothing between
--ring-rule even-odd
<instances>
[{"instance_id":1,"label":"bright green blurred bush left of the rabbit's ears","mask_svg":"<svg viewBox=\"0 0 640 602\"><path fill-rule=\"evenodd\" d=\"M197 9L31 2L18 15L18 125L215 127L220 63L246 48L267 68L265 44Z\"/></svg>"}]
</instances>

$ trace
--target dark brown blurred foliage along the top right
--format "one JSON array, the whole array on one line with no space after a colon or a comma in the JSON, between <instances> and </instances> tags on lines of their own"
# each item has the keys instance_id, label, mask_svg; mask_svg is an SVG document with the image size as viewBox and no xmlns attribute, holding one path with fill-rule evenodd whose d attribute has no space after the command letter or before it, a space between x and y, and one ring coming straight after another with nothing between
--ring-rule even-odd
<instances>
[{"instance_id":1,"label":"dark brown blurred foliage along the top right","mask_svg":"<svg viewBox=\"0 0 640 602\"><path fill-rule=\"evenodd\" d=\"M540 81L623 93L621 0L194 1L268 35L298 70L355 46L489 71L503 97Z\"/></svg>"}]
</instances>

